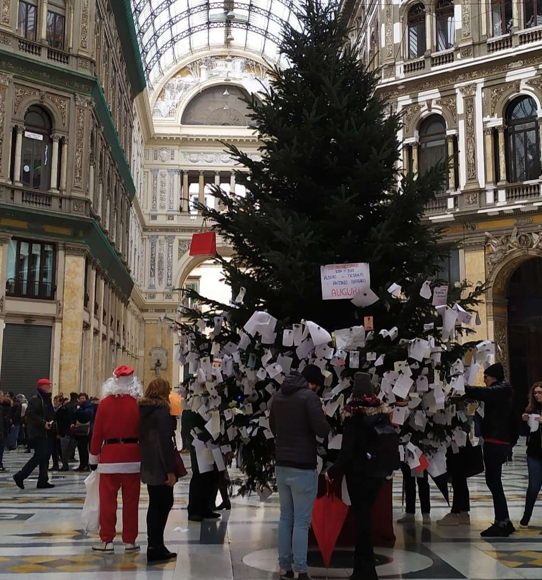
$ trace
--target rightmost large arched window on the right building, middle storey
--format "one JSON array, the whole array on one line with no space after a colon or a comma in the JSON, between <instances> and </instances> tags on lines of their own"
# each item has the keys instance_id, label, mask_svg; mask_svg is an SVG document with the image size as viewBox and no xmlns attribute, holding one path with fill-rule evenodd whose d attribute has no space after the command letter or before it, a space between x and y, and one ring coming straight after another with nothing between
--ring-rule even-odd
<instances>
[{"instance_id":1,"label":"rightmost large arched window on the right building, middle storey","mask_svg":"<svg viewBox=\"0 0 542 580\"><path fill-rule=\"evenodd\" d=\"M540 177L540 137L536 103L518 97L507 109L507 171L511 183Z\"/></svg>"}]
</instances>

